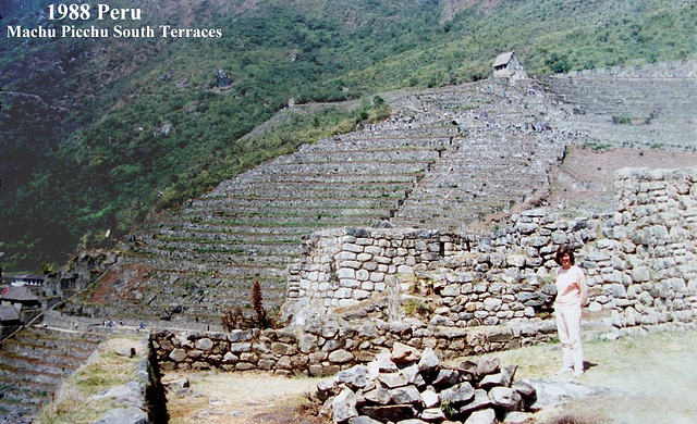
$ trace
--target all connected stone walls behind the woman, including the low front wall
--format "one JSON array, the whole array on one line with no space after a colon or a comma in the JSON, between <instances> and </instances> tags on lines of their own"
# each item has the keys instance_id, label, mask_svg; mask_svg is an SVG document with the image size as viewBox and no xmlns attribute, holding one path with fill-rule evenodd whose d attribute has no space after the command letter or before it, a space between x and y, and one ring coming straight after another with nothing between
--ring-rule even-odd
<instances>
[{"instance_id":1,"label":"all connected stone walls behind the woman, including the low front wall","mask_svg":"<svg viewBox=\"0 0 697 424\"><path fill-rule=\"evenodd\" d=\"M588 309L608 311L615 334L694 327L697 169L626 169L616 187L614 213L571 219L535 209L486 236L318 233L306 240L289 286L295 295L286 308L295 308L302 325L161 332L151 336L158 360L166 370L330 375L370 362L395 342L449 358L546 341L555 332L545 314L561 245L576 249L590 286ZM409 300L430 308L404 316Z\"/></svg>"}]
</instances>

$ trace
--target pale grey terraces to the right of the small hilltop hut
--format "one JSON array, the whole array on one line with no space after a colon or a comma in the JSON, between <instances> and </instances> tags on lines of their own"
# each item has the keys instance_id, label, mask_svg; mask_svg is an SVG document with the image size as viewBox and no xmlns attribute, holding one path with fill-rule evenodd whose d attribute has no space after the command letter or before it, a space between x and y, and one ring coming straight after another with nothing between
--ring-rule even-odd
<instances>
[{"instance_id":1,"label":"pale grey terraces to the right of the small hilltop hut","mask_svg":"<svg viewBox=\"0 0 697 424\"><path fill-rule=\"evenodd\" d=\"M697 61L583 71L543 78L574 109L560 129L597 144L697 149Z\"/></svg>"}]
</instances>

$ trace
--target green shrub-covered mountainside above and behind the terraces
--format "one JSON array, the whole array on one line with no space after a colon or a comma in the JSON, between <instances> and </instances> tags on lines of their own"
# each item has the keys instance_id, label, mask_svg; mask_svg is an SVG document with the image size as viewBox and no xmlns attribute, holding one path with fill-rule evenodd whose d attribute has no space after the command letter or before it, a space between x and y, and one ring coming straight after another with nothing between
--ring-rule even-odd
<instances>
[{"instance_id":1,"label":"green shrub-covered mountainside above and behind the terraces","mask_svg":"<svg viewBox=\"0 0 697 424\"><path fill-rule=\"evenodd\" d=\"M383 117L380 92L487 77L503 51L537 74L697 58L694 1L481 3L496 5L143 0L142 20L120 25L222 37L21 38L8 26L63 25L47 17L53 3L0 0L0 266L47 269L78 246L109 246L154 210ZM242 138L290 99L359 101Z\"/></svg>"}]
</instances>

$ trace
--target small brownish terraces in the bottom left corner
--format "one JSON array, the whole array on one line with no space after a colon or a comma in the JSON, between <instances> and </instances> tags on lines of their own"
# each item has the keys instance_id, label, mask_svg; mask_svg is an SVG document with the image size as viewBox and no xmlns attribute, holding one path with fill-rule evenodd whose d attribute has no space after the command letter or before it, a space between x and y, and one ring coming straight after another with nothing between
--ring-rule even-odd
<instances>
[{"instance_id":1,"label":"small brownish terraces in the bottom left corner","mask_svg":"<svg viewBox=\"0 0 697 424\"><path fill-rule=\"evenodd\" d=\"M103 336L27 327L0 345L0 422L29 423Z\"/></svg>"}]
</instances>

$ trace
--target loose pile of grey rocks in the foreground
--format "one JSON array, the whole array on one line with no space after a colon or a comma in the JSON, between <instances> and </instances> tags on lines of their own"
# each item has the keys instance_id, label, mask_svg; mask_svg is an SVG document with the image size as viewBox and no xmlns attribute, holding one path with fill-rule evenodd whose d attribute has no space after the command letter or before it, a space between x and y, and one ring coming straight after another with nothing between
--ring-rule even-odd
<instances>
[{"instance_id":1,"label":"loose pile of grey rocks in the foreground","mask_svg":"<svg viewBox=\"0 0 697 424\"><path fill-rule=\"evenodd\" d=\"M523 422L531 413L514 411L529 410L536 391L513 381L516 369L490 357L448 366L430 348L396 342L367 366L319 384L316 396L320 414L338 424Z\"/></svg>"}]
</instances>

